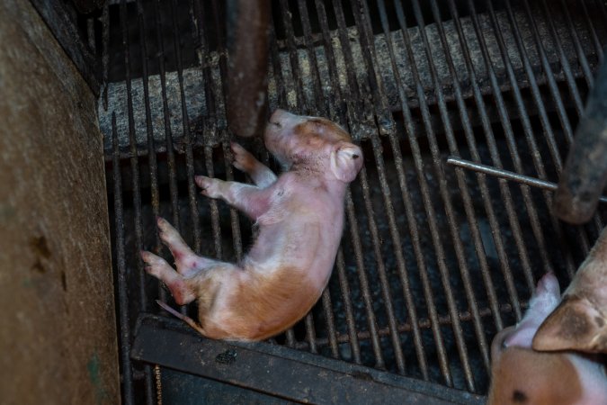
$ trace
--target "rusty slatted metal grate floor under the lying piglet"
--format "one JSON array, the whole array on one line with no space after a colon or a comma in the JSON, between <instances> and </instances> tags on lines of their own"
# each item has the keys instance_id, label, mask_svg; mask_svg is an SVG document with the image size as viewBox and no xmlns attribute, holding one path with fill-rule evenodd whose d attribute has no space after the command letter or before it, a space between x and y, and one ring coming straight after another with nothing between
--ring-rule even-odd
<instances>
[{"instance_id":1,"label":"rusty slatted metal grate floor under the lying piglet","mask_svg":"<svg viewBox=\"0 0 607 405\"><path fill-rule=\"evenodd\" d=\"M151 366L129 358L138 314L170 300L138 260L141 248L169 258L155 216L210 257L240 259L251 238L248 220L193 183L245 181L230 165L223 7L123 0L103 11L99 115L126 403L156 402ZM365 166L329 287L272 343L484 394L491 338L520 319L537 277L553 269L567 283L604 210L570 227L548 191L446 158L556 181L606 21L600 1L274 1L272 110L344 124ZM269 161L260 139L247 146Z\"/></svg>"}]
</instances>

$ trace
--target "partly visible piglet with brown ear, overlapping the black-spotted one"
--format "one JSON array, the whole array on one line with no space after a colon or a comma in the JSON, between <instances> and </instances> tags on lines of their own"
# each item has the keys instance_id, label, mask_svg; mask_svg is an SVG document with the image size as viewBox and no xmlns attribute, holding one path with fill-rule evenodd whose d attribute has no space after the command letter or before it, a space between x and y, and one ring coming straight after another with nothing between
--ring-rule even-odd
<instances>
[{"instance_id":1,"label":"partly visible piglet with brown ear, overlapping the black-spotted one","mask_svg":"<svg viewBox=\"0 0 607 405\"><path fill-rule=\"evenodd\" d=\"M563 302L541 325L533 348L607 353L607 228L577 270Z\"/></svg>"}]
</instances>

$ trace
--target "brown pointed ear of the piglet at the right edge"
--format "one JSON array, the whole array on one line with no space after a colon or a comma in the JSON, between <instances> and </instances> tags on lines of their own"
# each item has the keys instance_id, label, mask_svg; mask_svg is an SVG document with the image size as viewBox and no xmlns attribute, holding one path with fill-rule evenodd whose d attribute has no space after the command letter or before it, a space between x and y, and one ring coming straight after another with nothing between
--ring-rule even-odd
<instances>
[{"instance_id":1,"label":"brown pointed ear of the piglet at the right edge","mask_svg":"<svg viewBox=\"0 0 607 405\"><path fill-rule=\"evenodd\" d=\"M533 348L607 353L604 309L595 308L594 303L585 298L566 296L538 329Z\"/></svg>"}]
</instances>

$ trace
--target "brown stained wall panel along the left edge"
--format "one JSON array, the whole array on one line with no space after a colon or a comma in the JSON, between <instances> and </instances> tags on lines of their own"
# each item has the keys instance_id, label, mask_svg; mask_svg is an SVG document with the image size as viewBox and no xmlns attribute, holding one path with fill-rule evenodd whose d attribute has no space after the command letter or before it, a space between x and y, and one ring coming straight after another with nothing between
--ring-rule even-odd
<instances>
[{"instance_id":1,"label":"brown stained wall panel along the left edge","mask_svg":"<svg viewBox=\"0 0 607 405\"><path fill-rule=\"evenodd\" d=\"M0 403L120 402L102 135L24 0L0 1Z\"/></svg>"}]
</instances>

